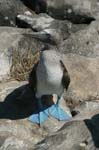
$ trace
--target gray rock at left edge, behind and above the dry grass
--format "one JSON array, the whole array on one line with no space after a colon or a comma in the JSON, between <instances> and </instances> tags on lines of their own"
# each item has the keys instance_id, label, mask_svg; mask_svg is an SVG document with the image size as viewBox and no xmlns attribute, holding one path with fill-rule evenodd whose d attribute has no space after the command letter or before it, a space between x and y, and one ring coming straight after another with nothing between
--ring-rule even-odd
<instances>
[{"instance_id":1,"label":"gray rock at left edge, behind and above the dry grass","mask_svg":"<svg viewBox=\"0 0 99 150\"><path fill-rule=\"evenodd\" d=\"M18 28L0 27L0 81L10 78L10 69L13 63L15 69L17 67L16 64L20 63L18 61L25 59L26 63L27 53L30 53L32 56L32 54L44 47L43 43L31 37L26 37L23 33L28 33L28 31Z\"/></svg>"}]
</instances>

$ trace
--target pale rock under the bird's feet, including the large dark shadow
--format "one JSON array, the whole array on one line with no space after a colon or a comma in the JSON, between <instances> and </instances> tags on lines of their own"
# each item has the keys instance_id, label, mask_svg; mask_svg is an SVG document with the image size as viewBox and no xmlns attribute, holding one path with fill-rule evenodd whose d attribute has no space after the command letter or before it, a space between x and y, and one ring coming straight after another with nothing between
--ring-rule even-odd
<instances>
[{"instance_id":1,"label":"pale rock under the bird's feet, including the large dark shadow","mask_svg":"<svg viewBox=\"0 0 99 150\"><path fill-rule=\"evenodd\" d=\"M61 106L69 112L64 102ZM27 82L0 84L0 150L33 149L46 135L65 123L50 117L39 127L28 121L36 109L36 99Z\"/></svg>"}]
</instances>

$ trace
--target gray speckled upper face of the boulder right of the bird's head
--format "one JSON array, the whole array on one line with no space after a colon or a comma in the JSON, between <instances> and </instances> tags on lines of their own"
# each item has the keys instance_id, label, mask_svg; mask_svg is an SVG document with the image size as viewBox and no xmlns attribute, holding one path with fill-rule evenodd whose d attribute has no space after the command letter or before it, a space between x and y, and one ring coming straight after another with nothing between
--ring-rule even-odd
<instances>
[{"instance_id":1,"label":"gray speckled upper face of the boulder right of the bird's head","mask_svg":"<svg viewBox=\"0 0 99 150\"><path fill-rule=\"evenodd\" d=\"M72 34L61 44L60 52L99 57L99 21Z\"/></svg>"}]
</instances>

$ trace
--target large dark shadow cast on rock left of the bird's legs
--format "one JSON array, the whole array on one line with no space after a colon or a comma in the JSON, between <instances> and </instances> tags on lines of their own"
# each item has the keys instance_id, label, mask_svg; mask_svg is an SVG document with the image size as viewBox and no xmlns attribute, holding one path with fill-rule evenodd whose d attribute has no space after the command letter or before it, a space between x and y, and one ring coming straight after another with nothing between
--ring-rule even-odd
<instances>
[{"instance_id":1,"label":"large dark shadow cast on rock left of the bird's legs","mask_svg":"<svg viewBox=\"0 0 99 150\"><path fill-rule=\"evenodd\" d=\"M37 109L34 92L29 85L21 86L0 102L0 119L22 119L33 114Z\"/></svg>"}]
</instances>

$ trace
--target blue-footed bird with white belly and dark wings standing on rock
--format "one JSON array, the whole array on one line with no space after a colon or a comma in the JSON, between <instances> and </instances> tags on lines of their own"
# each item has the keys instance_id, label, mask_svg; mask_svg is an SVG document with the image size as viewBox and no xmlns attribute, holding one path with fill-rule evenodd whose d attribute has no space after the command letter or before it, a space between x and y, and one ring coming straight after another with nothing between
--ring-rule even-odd
<instances>
[{"instance_id":1,"label":"blue-footed bird with white belly and dark wings standing on rock","mask_svg":"<svg viewBox=\"0 0 99 150\"><path fill-rule=\"evenodd\" d=\"M60 107L64 89L68 89L70 75L56 50L42 50L40 59L34 65L29 85L34 89L37 98L38 111L29 117L29 121L41 125L52 116L59 121L70 120L71 117ZM45 108L42 104L43 95L57 96L57 102Z\"/></svg>"}]
</instances>

